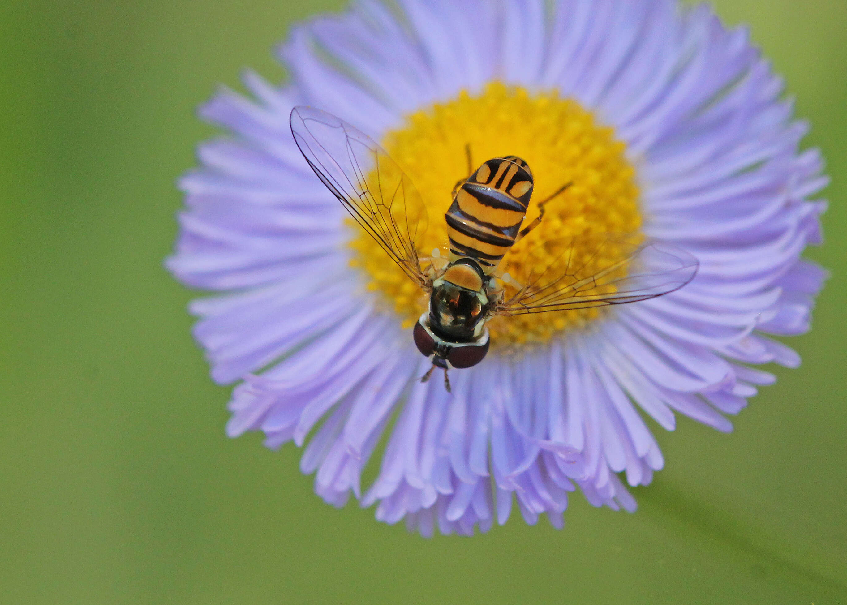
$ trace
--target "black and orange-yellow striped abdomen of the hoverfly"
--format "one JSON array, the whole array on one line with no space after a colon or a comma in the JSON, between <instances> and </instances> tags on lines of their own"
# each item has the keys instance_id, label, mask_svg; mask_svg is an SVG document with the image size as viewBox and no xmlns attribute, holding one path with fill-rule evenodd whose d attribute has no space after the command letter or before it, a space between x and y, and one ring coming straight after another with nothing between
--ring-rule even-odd
<instances>
[{"instance_id":1,"label":"black and orange-yellow striped abdomen of the hoverfly","mask_svg":"<svg viewBox=\"0 0 847 605\"><path fill-rule=\"evenodd\" d=\"M473 258L490 275L515 243L532 189L532 171L523 159L512 155L482 164L444 215L451 262Z\"/></svg>"}]
</instances>

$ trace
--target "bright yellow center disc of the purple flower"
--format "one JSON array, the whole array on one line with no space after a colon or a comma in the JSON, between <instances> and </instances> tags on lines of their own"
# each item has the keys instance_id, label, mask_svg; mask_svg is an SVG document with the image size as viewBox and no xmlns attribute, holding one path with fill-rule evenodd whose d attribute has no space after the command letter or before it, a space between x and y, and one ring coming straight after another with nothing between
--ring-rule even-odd
<instances>
[{"instance_id":1,"label":"bright yellow center disc of the purple flower","mask_svg":"<svg viewBox=\"0 0 847 605\"><path fill-rule=\"evenodd\" d=\"M408 116L405 125L388 132L381 144L418 188L427 207L429 226L418 248L423 257L446 246L443 215L451 204L453 186L468 177L468 145L473 170L485 160L507 155L527 161L534 176L534 192L523 225L538 216L539 201L572 184L545 205L540 225L503 258L501 269L510 275L520 275L524 258L544 264L544 249L554 249L549 246L553 242L580 236L579 241L590 247L593 234L632 234L641 226L639 189L623 142L615 139L611 128L598 125L579 103L560 98L556 92L530 95L522 87L500 83L490 84L478 96L461 92L447 103ZM414 208L410 209L414 214ZM404 326L410 327L427 308L424 292L363 230L358 230L350 245L352 263L367 275L368 288L379 291ZM531 257L525 253L528 249L533 250ZM573 251L576 258L595 252ZM614 247L602 253L609 255L604 263L623 259L615 257L620 252ZM554 260L551 256L548 264ZM495 317L488 324L491 344L510 347L548 341L557 332L584 325L600 313L600 308L586 308Z\"/></svg>"}]
</instances>

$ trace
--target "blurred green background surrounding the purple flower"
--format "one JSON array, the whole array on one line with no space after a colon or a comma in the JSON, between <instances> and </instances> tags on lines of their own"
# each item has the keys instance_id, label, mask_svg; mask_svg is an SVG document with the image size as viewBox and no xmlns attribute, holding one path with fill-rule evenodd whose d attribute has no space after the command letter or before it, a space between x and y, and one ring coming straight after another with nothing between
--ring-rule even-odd
<instances>
[{"instance_id":1,"label":"blurred green background surrounding the purple flower","mask_svg":"<svg viewBox=\"0 0 847 605\"><path fill-rule=\"evenodd\" d=\"M847 602L847 3L724 0L749 23L833 184L815 328L722 435L681 419L638 513L574 497L565 530L512 515L424 540L336 510L300 452L224 437L162 268L194 111L338 0L0 4L0 602Z\"/></svg>"}]
</instances>

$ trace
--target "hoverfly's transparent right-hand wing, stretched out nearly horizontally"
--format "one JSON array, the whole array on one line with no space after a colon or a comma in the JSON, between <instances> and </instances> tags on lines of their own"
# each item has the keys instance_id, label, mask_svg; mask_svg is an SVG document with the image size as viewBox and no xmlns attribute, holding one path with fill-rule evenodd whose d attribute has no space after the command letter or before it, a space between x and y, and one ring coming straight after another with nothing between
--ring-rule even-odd
<instances>
[{"instance_id":1,"label":"hoverfly's transparent right-hand wing, stretched out nearly horizontally","mask_svg":"<svg viewBox=\"0 0 847 605\"><path fill-rule=\"evenodd\" d=\"M643 236L582 236L530 250L508 278L498 315L635 303L685 286L697 259Z\"/></svg>"}]
</instances>

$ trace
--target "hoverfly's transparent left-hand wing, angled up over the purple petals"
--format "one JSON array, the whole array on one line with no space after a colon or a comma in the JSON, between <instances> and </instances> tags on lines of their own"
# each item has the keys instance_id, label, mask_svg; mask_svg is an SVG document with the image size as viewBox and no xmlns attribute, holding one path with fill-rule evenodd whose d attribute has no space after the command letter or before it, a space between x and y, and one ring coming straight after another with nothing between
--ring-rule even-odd
<instances>
[{"instance_id":1,"label":"hoverfly's transparent left-hand wing, angled up over the purple petals","mask_svg":"<svg viewBox=\"0 0 847 605\"><path fill-rule=\"evenodd\" d=\"M353 219L412 280L426 286L419 238L426 207L407 175L357 128L319 109L291 110L291 134L303 157Z\"/></svg>"}]
</instances>

